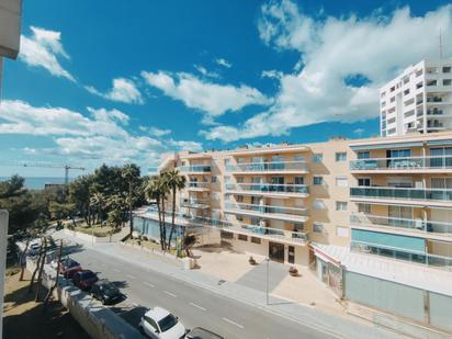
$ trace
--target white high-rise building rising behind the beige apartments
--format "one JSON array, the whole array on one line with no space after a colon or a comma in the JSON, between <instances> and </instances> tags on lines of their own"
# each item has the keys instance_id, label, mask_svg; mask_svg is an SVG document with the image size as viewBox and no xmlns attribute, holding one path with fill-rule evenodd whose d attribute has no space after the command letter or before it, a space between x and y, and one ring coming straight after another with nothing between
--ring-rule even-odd
<instances>
[{"instance_id":1,"label":"white high-rise building rising behind the beige apartments","mask_svg":"<svg viewBox=\"0 0 452 339\"><path fill-rule=\"evenodd\" d=\"M381 136L452 129L452 59L422 60L380 89Z\"/></svg>"}]
</instances>

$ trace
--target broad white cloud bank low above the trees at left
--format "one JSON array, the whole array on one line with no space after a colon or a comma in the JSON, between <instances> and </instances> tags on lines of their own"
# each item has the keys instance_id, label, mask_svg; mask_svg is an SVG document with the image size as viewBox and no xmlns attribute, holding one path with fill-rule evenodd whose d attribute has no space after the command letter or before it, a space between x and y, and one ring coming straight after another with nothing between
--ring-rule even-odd
<instances>
[{"instance_id":1,"label":"broad white cloud bank low above the trees at left","mask_svg":"<svg viewBox=\"0 0 452 339\"><path fill-rule=\"evenodd\" d=\"M26 134L49 137L55 147L25 147L26 156L61 157L70 162L88 161L93 166L136 161L157 163L162 152L200 150L200 143L157 139L126 129L129 116L118 110L87 108L90 116L64 108L36 108L24 101L4 100L0 105L0 134ZM143 129L143 128L140 128ZM168 129L147 127L147 133L163 137ZM86 166L86 162L83 162Z\"/></svg>"}]
</instances>

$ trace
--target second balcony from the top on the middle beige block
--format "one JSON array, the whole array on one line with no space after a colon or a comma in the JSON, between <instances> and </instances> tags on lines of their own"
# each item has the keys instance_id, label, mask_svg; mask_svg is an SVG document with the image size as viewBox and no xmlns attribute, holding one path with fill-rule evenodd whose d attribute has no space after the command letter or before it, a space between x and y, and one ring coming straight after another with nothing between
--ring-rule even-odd
<instances>
[{"instance_id":1,"label":"second balcony from the top on the middle beige block","mask_svg":"<svg viewBox=\"0 0 452 339\"><path fill-rule=\"evenodd\" d=\"M305 184L273 184L273 183L226 183L226 192L249 195L294 195L306 197L308 189Z\"/></svg>"}]
</instances>

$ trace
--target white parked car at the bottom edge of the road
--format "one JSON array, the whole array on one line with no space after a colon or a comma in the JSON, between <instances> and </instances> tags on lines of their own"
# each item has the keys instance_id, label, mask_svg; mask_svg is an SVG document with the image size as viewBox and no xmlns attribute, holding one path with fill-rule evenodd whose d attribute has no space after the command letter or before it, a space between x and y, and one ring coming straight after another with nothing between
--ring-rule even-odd
<instances>
[{"instance_id":1,"label":"white parked car at the bottom edge of the road","mask_svg":"<svg viewBox=\"0 0 452 339\"><path fill-rule=\"evenodd\" d=\"M142 317L139 329L143 334L156 339L185 338L185 326L178 317L161 307L150 308Z\"/></svg>"}]
</instances>

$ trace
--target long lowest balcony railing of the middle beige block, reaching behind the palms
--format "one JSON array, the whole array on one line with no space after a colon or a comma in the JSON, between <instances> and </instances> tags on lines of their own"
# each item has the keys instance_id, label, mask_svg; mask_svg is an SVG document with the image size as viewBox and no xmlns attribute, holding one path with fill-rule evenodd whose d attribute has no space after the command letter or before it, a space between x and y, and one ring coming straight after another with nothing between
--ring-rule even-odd
<instances>
[{"instance_id":1,"label":"long lowest balcony railing of the middle beige block, reaching behind the palms","mask_svg":"<svg viewBox=\"0 0 452 339\"><path fill-rule=\"evenodd\" d=\"M149 207L145 213L147 216L150 216L152 219L158 221L158 211L157 207ZM172 216L171 212L166 212L167 221ZM143 217L143 216L142 216ZM208 217L190 217L182 213L176 214L176 224L178 226L184 227L211 227L219 228L226 231L247 234L250 236L278 239L278 240L287 240L294 242L306 242L307 234L304 231L292 231L285 229L279 229L273 227L263 227L258 225L248 225L248 224L236 224L229 221L223 221L217 218Z\"/></svg>"}]
</instances>

